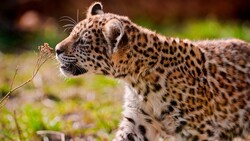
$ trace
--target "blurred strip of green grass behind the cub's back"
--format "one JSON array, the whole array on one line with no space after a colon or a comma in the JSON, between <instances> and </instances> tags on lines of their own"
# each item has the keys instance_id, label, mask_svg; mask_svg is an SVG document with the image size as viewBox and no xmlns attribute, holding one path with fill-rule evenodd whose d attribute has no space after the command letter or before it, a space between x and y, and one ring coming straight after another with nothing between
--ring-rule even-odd
<instances>
[{"instance_id":1,"label":"blurred strip of green grass behind the cub's back","mask_svg":"<svg viewBox=\"0 0 250 141\"><path fill-rule=\"evenodd\" d=\"M239 38L250 41L250 25L247 23L219 22L215 19L190 20L183 23L154 24L148 20L135 20L143 27L166 36L193 40Z\"/></svg>"}]
</instances>

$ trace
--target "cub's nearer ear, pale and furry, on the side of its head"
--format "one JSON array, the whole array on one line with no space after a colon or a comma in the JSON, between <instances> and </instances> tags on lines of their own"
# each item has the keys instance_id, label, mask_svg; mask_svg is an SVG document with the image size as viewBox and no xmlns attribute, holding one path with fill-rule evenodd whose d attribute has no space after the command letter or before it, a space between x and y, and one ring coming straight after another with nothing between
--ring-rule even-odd
<instances>
[{"instance_id":1,"label":"cub's nearer ear, pale and furry, on the side of its head","mask_svg":"<svg viewBox=\"0 0 250 141\"><path fill-rule=\"evenodd\" d=\"M118 46L121 46L127 40L127 38L124 38L124 27L118 19L108 21L102 32L109 46L109 54L116 52Z\"/></svg>"}]
</instances>

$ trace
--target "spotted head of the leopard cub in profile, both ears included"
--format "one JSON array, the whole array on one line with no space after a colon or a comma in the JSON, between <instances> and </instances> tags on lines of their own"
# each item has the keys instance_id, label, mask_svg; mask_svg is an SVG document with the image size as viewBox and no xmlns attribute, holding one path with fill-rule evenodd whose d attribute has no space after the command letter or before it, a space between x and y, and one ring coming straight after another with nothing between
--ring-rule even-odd
<instances>
[{"instance_id":1,"label":"spotted head of the leopard cub in profile, both ears included","mask_svg":"<svg viewBox=\"0 0 250 141\"><path fill-rule=\"evenodd\" d=\"M66 76L84 73L112 75L112 55L119 47L126 46L124 33L126 17L104 13L101 3L92 4L86 19L73 28L70 35L56 45L60 70Z\"/></svg>"}]
</instances>

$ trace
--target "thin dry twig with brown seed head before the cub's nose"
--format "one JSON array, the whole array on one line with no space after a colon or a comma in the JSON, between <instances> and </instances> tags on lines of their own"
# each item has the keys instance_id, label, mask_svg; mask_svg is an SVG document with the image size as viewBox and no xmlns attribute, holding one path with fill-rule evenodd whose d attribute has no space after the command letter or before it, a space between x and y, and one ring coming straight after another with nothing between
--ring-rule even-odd
<instances>
[{"instance_id":1,"label":"thin dry twig with brown seed head before the cub's nose","mask_svg":"<svg viewBox=\"0 0 250 141\"><path fill-rule=\"evenodd\" d=\"M15 88L13 88L13 84L14 84L14 80L16 78L17 75L17 71L18 68L16 68L15 70L15 74L13 76L12 82L11 82L11 87L9 92L0 100L0 108L6 103L6 101L8 100L8 98L10 97L10 94L13 93L14 91L16 91L17 89L23 87L24 85L30 83L34 77L37 75L38 71L40 70L40 68L42 67L42 65L48 61L49 59L52 59L54 54L53 54L53 49L49 46L48 43L44 43L44 45L42 46L38 46L38 50L39 50L39 57L37 59L36 65L34 67L32 76L30 79L28 79L27 81L23 82L22 84L16 86Z\"/></svg>"}]
</instances>

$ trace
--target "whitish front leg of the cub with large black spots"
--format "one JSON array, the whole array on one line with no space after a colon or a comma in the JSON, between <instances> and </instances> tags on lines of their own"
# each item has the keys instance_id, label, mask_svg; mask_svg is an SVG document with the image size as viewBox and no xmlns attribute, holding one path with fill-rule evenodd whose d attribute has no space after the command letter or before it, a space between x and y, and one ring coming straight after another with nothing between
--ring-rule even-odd
<instances>
[{"instance_id":1,"label":"whitish front leg of the cub with large black spots","mask_svg":"<svg viewBox=\"0 0 250 141\"><path fill-rule=\"evenodd\" d=\"M124 118L113 141L155 141L157 132L151 119L138 111L124 112Z\"/></svg>"}]
</instances>

